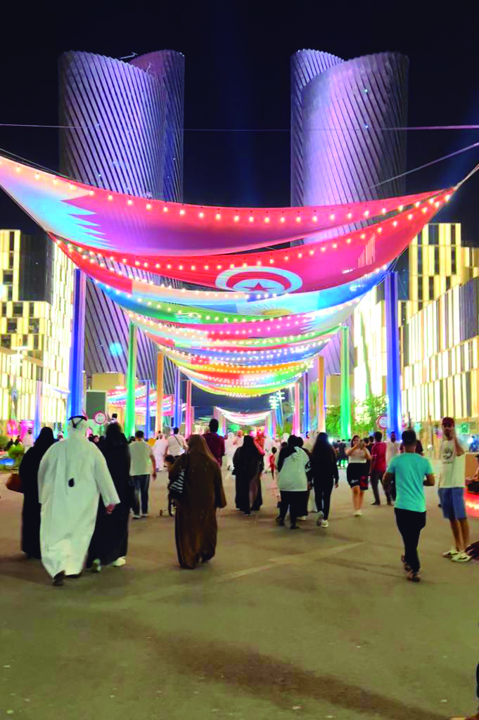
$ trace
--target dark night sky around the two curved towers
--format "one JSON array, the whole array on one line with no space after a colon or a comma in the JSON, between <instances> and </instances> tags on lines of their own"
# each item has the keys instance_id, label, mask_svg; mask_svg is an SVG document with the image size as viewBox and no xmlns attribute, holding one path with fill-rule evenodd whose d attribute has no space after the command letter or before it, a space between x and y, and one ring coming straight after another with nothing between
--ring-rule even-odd
<instances>
[{"instance_id":1,"label":"dark night sky around the two curved towers","mask_svg":"<svg viewBox=\"0 0 479 720\"><path fill-rule=\"evenodd\" d=\"M290 201L290 56L314 48L341 58L408 55L408 125L479 124L477 24L472 4L235 2L11 4L2 17L1 123L58 123L58 56L120 58L179 50L186 58L184 201L274 206ZM60 4L58 4L60 6ZM278 8L285 7L287 12ZM328 7L328 9L325 9ZM462 10L469 7L470 12ZM198 132L211 129L212 132ZM252 132L229 132L232 129ZM408 132L408 169L479 142L479 130ZM55 129L0 127L0 148L53 170ZM479 148L414 173L407 191L454 184ZM438 216L479 245L479 173ZM1 194L0 227L32 230Z\"/></svg>"}]
</instances>

